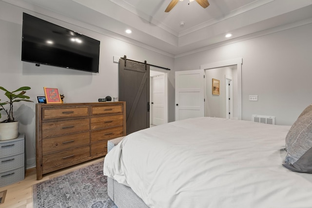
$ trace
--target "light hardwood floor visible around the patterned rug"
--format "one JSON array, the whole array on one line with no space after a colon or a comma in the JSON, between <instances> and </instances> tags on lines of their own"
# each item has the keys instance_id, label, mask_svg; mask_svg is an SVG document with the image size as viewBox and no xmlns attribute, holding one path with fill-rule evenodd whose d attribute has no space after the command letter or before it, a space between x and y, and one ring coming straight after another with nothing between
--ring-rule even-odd
<instances>
[{"instance_id":1,"label":"light hardwood floor visible around the patterned rug","mask_svg":"<svg viewBox=\"0 0 312 208\"><path fill-rule=\"evenodd\" d=\"M51 172L43 175L41 180L36 180L36 168L26 170L25 179L5 187L1 187L0 191L7 190L4 204L0 208L32 208L33 207L33 185L39 182L63 175L67 172L84 168L91 164L104 161L104 157L94 159L88 162L72 166L70 168L62 169L59 171Z\"/></svg>"}]
</instances>

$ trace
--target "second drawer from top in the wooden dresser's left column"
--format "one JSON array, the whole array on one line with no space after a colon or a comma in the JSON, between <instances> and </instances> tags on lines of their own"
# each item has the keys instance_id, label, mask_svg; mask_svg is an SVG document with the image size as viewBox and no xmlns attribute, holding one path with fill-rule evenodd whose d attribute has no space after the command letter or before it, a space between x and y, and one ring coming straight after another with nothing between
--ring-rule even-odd
<instances>
[{"instance_id":1,"label":"second drawer from top in the wooden dresser's left column","mask_svg":"<svg viewBox=\"0 0 312 208\"><path fill-rule=\"evenodd\" d=\"M42 123L42 138L90 130L89 118Z\"/></svg>"}]
</instances>

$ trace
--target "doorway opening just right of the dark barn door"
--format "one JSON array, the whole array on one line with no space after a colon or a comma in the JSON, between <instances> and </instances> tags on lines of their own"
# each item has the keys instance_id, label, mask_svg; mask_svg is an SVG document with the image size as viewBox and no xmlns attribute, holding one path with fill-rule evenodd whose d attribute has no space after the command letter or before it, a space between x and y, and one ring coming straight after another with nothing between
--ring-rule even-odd
<instances>
[{"instance_id":1,"label":"doorway opening just right of the dark barn door","mask_svg":"<svg viewBox=\"0 0 312 208\"><path fill-rule=\"evenodd\" d=\"M150 66L150 126L168 123L168 73Z\"/></svg>"}]
</instances>

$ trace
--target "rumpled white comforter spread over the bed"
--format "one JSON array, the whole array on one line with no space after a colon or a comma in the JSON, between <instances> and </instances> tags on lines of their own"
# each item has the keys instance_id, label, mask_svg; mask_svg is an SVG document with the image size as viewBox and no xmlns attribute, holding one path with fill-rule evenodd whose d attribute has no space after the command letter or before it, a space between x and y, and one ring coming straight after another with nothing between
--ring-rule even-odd
<instances>
[{"instance_id":1,"label":"rumpled white comforter spread over the bed","mask_svg":"<svg viewBox=\"0 0 312 208\"><path fill-rule=\"evenodd\" d=\"M312 174L282 167L290 126L200 117L126 136L104 175L151 208L312 208Z\"/></svg>"}]
</instances>

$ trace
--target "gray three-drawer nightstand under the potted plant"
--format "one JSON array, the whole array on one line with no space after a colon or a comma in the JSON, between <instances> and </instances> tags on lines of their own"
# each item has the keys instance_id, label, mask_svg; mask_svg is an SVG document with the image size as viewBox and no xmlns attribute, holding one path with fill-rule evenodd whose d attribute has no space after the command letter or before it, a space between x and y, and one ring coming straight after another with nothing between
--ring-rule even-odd
<instances>
[{"instance_id":1,"label":"gray three-drawer nightstand under the potted plant","mask_svg":"<svg viewBox=\"0 0 312 208\"><path fill-rule=\"evenodd\" d=\"M0 187L25 178L25 134L18 138L0 141Z\"/></svg>"}]
</instances>

